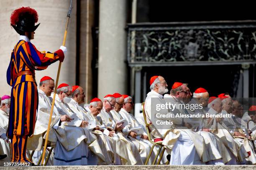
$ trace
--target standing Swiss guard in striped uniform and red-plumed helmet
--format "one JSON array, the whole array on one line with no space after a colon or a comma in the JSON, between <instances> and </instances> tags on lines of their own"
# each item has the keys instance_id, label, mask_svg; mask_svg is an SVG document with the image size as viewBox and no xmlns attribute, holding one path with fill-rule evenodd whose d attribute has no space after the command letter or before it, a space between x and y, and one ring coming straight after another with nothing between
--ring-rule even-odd
<instances>
[{"instance_id":1,"label":"standing Swiss guard in striped uniform and red-plumed helmet","mask_svg":"<svg viewBox=\"0 0 256 170\"><path fill-rule=\"evenodd\" d=\"M26 144L33 135L38 108L35 70L44 70L58 60L63 62L67 52L64 46L54 53L36 49L30 40L34 39L34 31L39 26L35 25L37 21L38 14L30 7L20 7L10 16L11 26L20 35L7 70L7 82L12 86L7 132L12 144L12 162L30 162L26 158Z\"/></svg>"}]
</instances>

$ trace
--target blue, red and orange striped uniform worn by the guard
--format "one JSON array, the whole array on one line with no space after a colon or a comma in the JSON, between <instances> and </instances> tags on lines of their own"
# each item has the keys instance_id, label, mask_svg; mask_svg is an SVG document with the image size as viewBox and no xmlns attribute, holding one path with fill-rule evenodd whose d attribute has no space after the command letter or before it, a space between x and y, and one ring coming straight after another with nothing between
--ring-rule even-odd
<instances>
[{"instance_id":1,"label":"blue, red and orange striped uniform worn by the guard","mask_svg":"<svg viewBox=\"0 0 256 170\"><path fill-rule=\"evenodd\" d=\"M7 82L12 86L7 131L12 142L12 162L28 162L26 143L28 137L33 135L38 108L35 70L46 69L59 57L64 57L62 50L54 53L40 52L25 40L20 40L13 49L7 70ZM18 76L21 71L30 71L33 75Z\"/></svg>"}]
</instances>

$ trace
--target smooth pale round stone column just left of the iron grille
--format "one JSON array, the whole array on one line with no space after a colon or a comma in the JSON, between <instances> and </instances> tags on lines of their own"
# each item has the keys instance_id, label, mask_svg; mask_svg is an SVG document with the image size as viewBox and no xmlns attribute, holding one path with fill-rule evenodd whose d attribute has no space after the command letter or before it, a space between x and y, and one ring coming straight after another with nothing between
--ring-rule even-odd
<instances>
[{"instance_id":1,"label":"smooth pale round stone column just left of the iron grille","mask_svg":"<svg viewBox=\"0 0 256 170\"><path fill-rule=\"evenodd\" d=\"M127 0L100 0L98 97L127 89Z\"/></svg>"}]
</instances>

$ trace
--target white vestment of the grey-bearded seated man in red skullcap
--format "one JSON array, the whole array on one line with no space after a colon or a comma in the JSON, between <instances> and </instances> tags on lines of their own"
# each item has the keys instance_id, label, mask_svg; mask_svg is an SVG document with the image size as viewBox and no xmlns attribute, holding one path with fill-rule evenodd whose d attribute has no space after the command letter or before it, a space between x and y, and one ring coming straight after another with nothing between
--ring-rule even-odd
<instances>
[{"instance_id":1,"label":"white vestment of the grey-bearded seated man in red skullcap","mask_svg":"<svg viewBox=\"0 0 256 170\"><path fill-rule=\"evenodd\" d=\"M174 97L167 96L168 102L177 103L177 99ZM171 120L174 125L168 125L164 129L156 129L157 125L154 125L155 122L151 122L151 118L154 116L156 120L158 118L156 115L151 115L151 99L155 98L158 104L164 104L165 101L162 100L163 96L159 93L151 90L148 92L146 100L145 100L145 112L147 116L148 123L153 123L151 128L151 134L153 138L161 138L163 139L163 145L166 147L166 150L169 154L171 154L171 161L170 165L193 165L193 164L204 164L205 162L209 161L209 156L207 150L205 149L204 139L198 135L197 133L193 132L192 130L179 128L182 125L182 120L179 118L167 118L164 120ZM163 113L166 114L166 110L161 110ZM160 111L160 112L161 112ZM174 110L174 115L176 113L182 113L181 110ZM159 118L159 120L161 120ZM184 152L186 150L186 152ZM181 152L182 151L182 152ZM198 154L198 155L197 155ZM200 161L200 159L202 161Z\"/></svg>"}]
</instances>

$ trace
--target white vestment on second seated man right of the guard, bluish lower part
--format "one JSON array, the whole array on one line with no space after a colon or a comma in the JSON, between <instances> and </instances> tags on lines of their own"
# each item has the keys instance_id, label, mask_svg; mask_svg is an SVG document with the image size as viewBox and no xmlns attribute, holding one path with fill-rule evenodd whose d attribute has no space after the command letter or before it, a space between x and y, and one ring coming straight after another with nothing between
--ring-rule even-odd
<instances>
[{"instance_id":1,"label":"white vestment on second seated man right of the guard, bluish lower part","mask_svg":"<svg viewBox=\"0 0 256 170\"><path fill-rule=\"evenodd\" d=\"M88 148L101 161L105 160L97 137L86 128L79 127L82 120L72 112L67 104L61 102L57 95L55 104L59 114L69 115L73 120L61 122L61 126L55 129L55 133L49 134L49 140L54 140L57 143L54 148L54 165L87 165Z\"/></svg>"}]
</instances>

